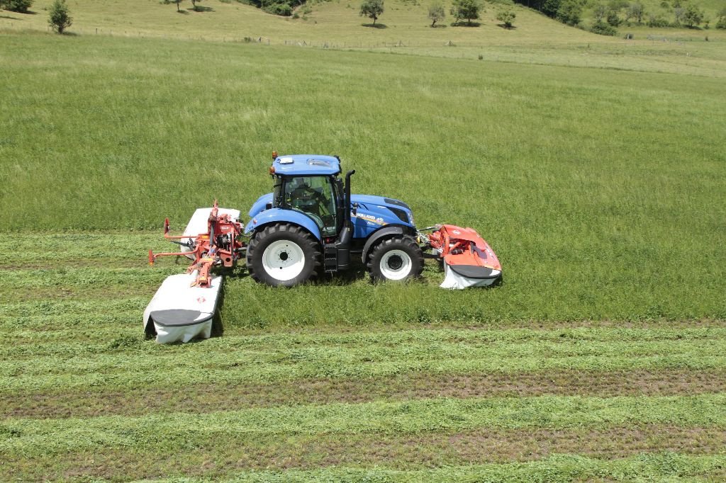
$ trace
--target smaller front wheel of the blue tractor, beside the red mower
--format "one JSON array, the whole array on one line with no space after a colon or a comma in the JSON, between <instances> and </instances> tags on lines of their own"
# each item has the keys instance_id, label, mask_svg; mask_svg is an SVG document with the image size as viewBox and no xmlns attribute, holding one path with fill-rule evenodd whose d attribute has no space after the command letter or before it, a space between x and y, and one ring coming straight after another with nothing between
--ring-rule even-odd
<instances>
[{"instance_id":1,"label":"smaller front wheel of the blue tractor, beside the red mower","mask_svg":"<svg viewBox=\"0 0 726 483\"><path fill-rule=\"evenodd\" d=\"M423 252L412 237L393 236L373 247L367 268L372 281L418 278L423 271Z\"/></svg>"}]
</instances>

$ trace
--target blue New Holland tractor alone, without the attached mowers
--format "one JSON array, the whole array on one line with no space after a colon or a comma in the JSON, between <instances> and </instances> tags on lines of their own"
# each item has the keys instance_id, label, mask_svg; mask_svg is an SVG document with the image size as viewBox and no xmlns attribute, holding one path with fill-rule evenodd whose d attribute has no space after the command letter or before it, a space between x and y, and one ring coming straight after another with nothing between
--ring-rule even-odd
<instances>
[{"instance_id":1,"label":"blue New Holland tractor alone, without the attached mowers","mask_svg":"<svg viewBox=\"0 0 726 483\"><path fill-rule=\"evenodd\" d=\"M421 235L411 209L398 199L351 195L340 178L340 158L273 153L272 193L250 209L245 235L247 268L258 282L293 286L335 273L361 257L374 281L420 276ZM425 236L424 236L425 238Z\"/></svg>"}]
</instances>

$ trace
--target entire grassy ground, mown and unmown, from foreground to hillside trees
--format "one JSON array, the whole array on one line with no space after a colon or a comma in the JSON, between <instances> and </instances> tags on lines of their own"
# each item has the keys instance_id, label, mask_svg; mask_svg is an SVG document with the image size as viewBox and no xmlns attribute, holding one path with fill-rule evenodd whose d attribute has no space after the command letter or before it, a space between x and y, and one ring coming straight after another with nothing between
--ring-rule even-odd
<instances>
[{"instance_id":1,"label":"entire grassy ground, mown and unmown, from foreground to hillside trees","mask_svg":"<svg viewBox=\"0 0 726 483\"><path fill-rule=\"evenodd\" d=\"M78 0L61 37L47 4L0 12L1 481L726 478L718 33ZM163 218L245 212L273 149L339 154L419 226L473 226L505 283L237 268L221 337L144 340L186 268L147 266Z\"/></svg>"}]
</instances>

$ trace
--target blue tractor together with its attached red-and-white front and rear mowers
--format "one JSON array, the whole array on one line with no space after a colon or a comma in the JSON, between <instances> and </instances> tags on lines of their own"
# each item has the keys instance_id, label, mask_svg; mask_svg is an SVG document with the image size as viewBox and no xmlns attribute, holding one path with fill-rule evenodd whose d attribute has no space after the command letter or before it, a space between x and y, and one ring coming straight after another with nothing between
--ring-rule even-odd
<instances>
[{"instance_id":1,"label":"blue tractor together with its attached red-and-white front and rear mowers","mask_svg":"<svg viewBox=\"0 0 726 483\"><path fill-rule=\"evenodd\" d=\"M250 276L271 286L346 270L353 257L361 257L374 281L416 278L423 271L424 249L441 261L441 288L492 286L502 280L497 255L473 228L441 224L423 228L429 232L423 234L406 203L351 195L355 171L346 173L345 183L340 173L338 157L274 153L274 189L257 199L244 228L239 210L216 201L197 208L182 234L171 234L164 220L164 238L179 244L179 252L149 250L149 263L184 256L192 264L159 287L144 310L144 331L160 343L210 337L222 286L222 276L212 269L232 267L242 257Z\"/></svg>"}]
</instances>

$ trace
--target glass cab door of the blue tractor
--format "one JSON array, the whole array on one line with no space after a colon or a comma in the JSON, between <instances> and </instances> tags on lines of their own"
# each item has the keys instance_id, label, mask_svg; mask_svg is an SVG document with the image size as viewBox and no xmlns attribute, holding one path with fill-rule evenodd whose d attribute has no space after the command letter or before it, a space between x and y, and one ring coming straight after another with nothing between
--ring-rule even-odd
<instances>
[{"instance_id":1,"label":"glass cab door of the blue tractor","mask_svg":"<svg viewBox=\"0 0 726 483\"><path fill-rule=\"evenodd\" d=\"M330 176L295 176L285 178L282 198L285 207L312 218L322 236L338 234L338 190Z\"/></svg>"}]
</instances>

